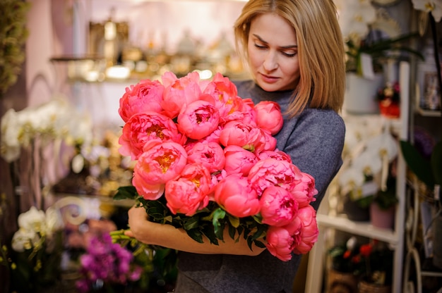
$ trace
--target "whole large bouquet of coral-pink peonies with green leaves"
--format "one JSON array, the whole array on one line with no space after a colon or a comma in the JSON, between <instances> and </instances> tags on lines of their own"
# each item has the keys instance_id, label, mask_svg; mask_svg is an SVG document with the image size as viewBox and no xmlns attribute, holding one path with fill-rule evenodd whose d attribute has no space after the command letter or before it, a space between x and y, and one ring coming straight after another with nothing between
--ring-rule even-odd
<instances>
[{"instance_id":1,"label":"whole large bouquet of coral-pink peonies with green leaves","mask_svg":"<svg viewBox=\"0 0 442 293\"><path fill-rule=\"evenodd\" d=\"M126 88L119 144L136 160L133 186L115 199L135 199L149 220L181 227L197 242L244 237L288 261L316 242L314 178L276 149L280 106L241 99L217 73L141 80ZM265 239L265 242L263 242Z\"/></svg>"}]
</instances>

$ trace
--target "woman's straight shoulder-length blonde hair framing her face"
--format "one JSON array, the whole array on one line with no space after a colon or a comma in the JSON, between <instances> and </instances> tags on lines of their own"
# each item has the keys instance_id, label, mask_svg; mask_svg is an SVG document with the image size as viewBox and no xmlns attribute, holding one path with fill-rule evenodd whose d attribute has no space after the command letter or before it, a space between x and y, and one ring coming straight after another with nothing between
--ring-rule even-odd
<instances>
[{"instance_id":1,"label":"woman's straight shoulder-length blonde hair framing her face","mask_svg":"<svg viewBox=\"0 0 442 293\"><path fill-rule=\"evenodd\" d=\"M249 57L251 21L263 13L285 18L297 36L300 78L288 114L295 116L306 106L339 112L345 92L345 49L333 0L247 2L234 24L237 50L244 60Z\"/></svg>"}]
</instances>

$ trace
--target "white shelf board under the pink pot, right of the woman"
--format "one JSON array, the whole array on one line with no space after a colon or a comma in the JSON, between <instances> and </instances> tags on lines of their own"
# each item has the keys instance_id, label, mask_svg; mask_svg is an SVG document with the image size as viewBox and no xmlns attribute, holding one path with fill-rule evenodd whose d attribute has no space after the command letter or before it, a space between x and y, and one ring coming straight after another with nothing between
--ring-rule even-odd
<instances>
[{"instance_id":1,"label":"white shelf board under the pink pot, right of the woman","mask_svg":"<svg viewBox=\"0 0 442 293\"><path fill-rule=\"evenodd\" d=\"M374 227L369 222L355 222L348 220L344 216L335 217L323 214L317 214L316 221L320 227L332 227L354 235L378 239L393 245L398 243L398 235L396 235L393 230Z\"/></svg>"}]
</instances>

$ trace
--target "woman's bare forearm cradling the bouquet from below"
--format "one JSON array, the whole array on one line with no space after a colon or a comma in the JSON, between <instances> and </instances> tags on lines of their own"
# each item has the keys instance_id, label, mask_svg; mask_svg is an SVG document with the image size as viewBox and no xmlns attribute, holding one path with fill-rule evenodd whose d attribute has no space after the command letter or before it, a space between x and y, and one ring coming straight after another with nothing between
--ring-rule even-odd
<instances>
[{"instance_id":1,"label":"woman's bare forearm cradling the bouquet from below","mask_svg":"<svg viewBox=\"0 0 442 293\"><path fill-rule=\"evenodd\" d=\"M150 222L144 208L133 207L129 210L129 227L130 230L126 231L125 235L135 237L140 242L195 254L257 256L265 250L255 245L251 250L244 237L239 237L239 241L235 242L229 236L227 228L224 232L224 242L219 241L219 245L210 244L208 238L204 238L204 243L196 242L183 229L168 224Z\"/></svg>"}]
</instances>

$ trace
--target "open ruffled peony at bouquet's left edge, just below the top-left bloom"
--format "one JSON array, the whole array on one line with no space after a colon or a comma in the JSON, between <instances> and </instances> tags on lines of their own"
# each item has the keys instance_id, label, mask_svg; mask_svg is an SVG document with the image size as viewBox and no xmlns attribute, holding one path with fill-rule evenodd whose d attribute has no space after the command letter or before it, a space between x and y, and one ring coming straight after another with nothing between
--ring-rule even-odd
<instances>
[{"instance_id":1,"label":"open ruffled peony at bouquet's left edge, just below the top-left bloom","mask_svg":"<svg viewBox=\"0 0 442 293\"><path fill-rule=\"evenodd\" d=\"M124 124L123 132L119 137L121 147L119 152L123 156L131 156L136 160L143 152L146 142L152 139L184 143L183 137L172 119L159 113L146 111L136 113Z\"/></svg>"}]
</instances>

